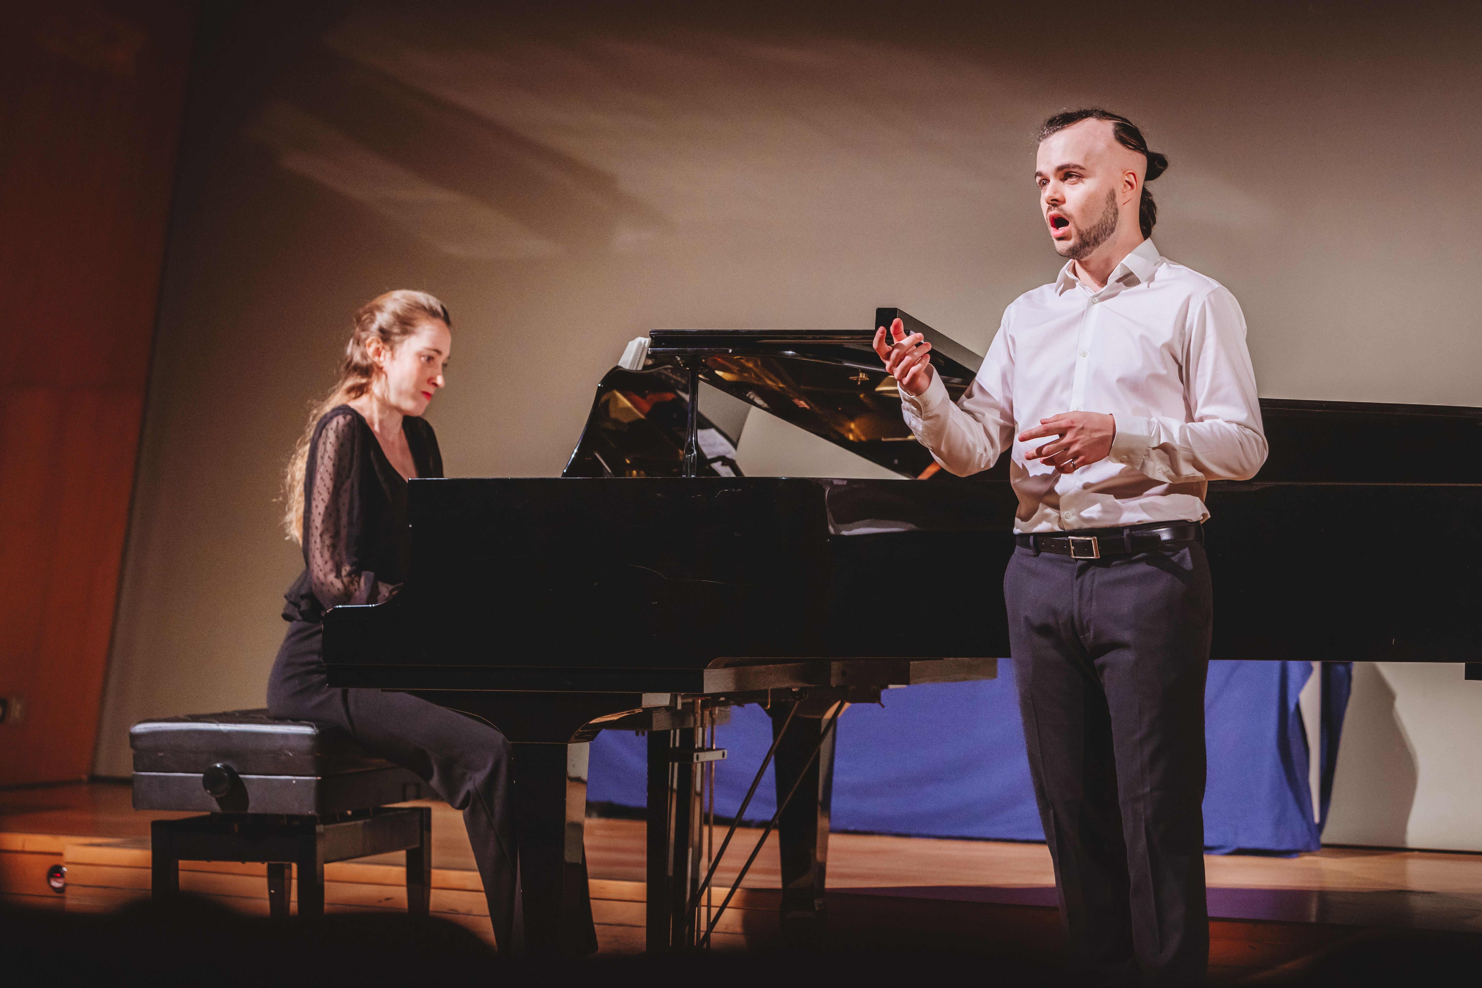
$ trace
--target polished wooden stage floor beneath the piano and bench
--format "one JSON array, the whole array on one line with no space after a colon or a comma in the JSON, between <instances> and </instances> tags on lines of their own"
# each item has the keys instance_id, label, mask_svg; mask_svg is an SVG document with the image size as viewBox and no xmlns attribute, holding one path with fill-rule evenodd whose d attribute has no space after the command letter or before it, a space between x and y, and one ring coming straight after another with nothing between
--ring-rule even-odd
<instances>
[{"instance_id":1,"label":"polished wooden stage floor beneath the piano and bench","mask_svg":"<svg viewBox=\"0 0 1482 988\"><path fill-rule=\"evenodd\" d=\"M148 893L148 824L126 784L0 791L0 899L107 911ZM459 815L433 803L433 909L489 936ZM717 840L723 831L717 828ZM729 887L756 841L738 832L717 884ZM593 908L603 952L643 947L643 824L587 821ZM67 867L67 889L46 871ZM1482 935L1482 855L1326 847L1298 858L1209 856L1211 964L1220 981L1270 970L1375 929ZM249 912L267 911L262 865L182 865L181 884ZM402 856L329 865L330 909L405 908ZM762 852L722 920L717 947L777 941L777 853ZM1054 877L1043 844L834 834L828 847L830 939L938 942L1058 952ZM716 902L720 895L717 893Z\"/></svg>"}]
</instances>

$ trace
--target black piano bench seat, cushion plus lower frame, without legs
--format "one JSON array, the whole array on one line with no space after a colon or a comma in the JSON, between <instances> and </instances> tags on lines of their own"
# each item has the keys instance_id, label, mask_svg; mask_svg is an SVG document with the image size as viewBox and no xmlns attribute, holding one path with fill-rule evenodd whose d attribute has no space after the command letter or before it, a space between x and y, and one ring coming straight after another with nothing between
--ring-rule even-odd
<instances>
[{"instance_id":1,"label":"black piano bench seat, cushion plus lower frame, without legs","mask_svg":"<svg viewBox=\"0 0 1482 988\"><path fill-rule=\"evenodd\" d=\"M141 720L133 748L133 809L319 816L431 795L412 772L360 750L341 730L273 720L265 710ZM221 797L203 773L228 766Z\"/></svg>"}]
</instances>

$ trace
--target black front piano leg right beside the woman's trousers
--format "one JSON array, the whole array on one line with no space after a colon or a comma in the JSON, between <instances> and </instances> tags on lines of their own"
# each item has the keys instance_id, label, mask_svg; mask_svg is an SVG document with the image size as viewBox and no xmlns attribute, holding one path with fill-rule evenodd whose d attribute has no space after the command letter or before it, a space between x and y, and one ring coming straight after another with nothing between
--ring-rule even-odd
<instances>
[{"instance_id":1,"label":"black front piano leg right beside the woman's trousers","mask_svg":"<svg viewBox=\"0 0 1482 988\"><path fill-rule=\"evenodd\" d=\"M585 957L597 949L582 846L587 752L587 742L514 742L516 951Z\"/></svg>"}]
</instances>

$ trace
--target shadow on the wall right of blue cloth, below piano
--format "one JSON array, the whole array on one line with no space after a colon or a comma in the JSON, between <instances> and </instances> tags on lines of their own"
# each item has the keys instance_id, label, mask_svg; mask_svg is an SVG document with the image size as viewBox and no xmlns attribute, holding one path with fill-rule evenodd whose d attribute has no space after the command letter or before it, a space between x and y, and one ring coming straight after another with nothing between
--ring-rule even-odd
<instances>
[{"instance_id":1,"label":"shadow on the wall right of blue cloth, below piano","mask_svg":"<svg viewBox=\"0 0 1482 988\"><path fill-rule=\"evenodd\" d=\"M1323 843L1403 847L1418 776L1395 689L1380 665L1355 662Z\"/></svg>"}]
</instances>

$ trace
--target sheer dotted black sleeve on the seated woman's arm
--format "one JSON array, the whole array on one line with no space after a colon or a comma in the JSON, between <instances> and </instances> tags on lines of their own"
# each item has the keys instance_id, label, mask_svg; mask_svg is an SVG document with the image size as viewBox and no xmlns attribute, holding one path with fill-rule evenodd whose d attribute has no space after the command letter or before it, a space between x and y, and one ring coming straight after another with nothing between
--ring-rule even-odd
<instances>
[{"instance_id":1,"label":"sheer dotted black sleeve on the seated woman's arm","mask_svg":"<svg viewBox=\"0 0 1482 988\"><path fill-rule=\"evenodd\" d=\"M360 558L362 464L370 450L362 449L365 437L357 425L351 415L325 422L307 467L313 475L307 484L304 548L314 597L326 610L338 604L381 603L397 590L378 582Z\"/></svg>"}]
</instances>

